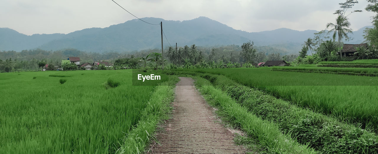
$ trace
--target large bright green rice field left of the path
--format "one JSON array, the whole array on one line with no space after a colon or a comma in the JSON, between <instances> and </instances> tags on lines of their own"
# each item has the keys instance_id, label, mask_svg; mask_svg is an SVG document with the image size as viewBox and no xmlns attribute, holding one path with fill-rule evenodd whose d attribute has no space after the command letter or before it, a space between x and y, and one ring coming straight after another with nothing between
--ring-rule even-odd
<instances>
[{"instance_id":1,"label":"large bright green rice field left of the path","mask_svg":"<svg viewBox=\"0 0 378 154\"><path fill-rule=\"evenodd\" d=\"M0 153L116 152L163 82L133 86L131 70L81 73L1 73ZM71 77L60 84L49 76ZM106 90L109 78L119 84Z\"/></svg>"}]
</instances>

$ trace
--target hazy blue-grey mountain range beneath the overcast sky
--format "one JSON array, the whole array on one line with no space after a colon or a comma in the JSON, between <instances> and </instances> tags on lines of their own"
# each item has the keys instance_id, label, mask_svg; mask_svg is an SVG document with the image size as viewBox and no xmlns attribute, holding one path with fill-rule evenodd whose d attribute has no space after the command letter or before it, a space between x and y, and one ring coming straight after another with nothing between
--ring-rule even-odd
<instances>
[{"instance_id":1,"label":"hazy blue-grey mountain range beneath the overcast sky","mask_svg":"<svg viewBox=\"0 0 378 154\"><path fill-rule=\"evenodd\" d=\"M197 46L242 45L249 40L255 46L273 46L287 53L297 53L307 38L313 38L316 30L298 31L287 28L263 32L245 32L235 30L207 17L193 20L172 21L161 18L142 18L149 23L163 21L164 34L170 44L178 46L196 44ZM363 29L355 31L350 43L361 43ZM163 36L164 47L169 46ZM89 52L133 51L161 47L160 25L150 25L138 19L112 25L106 28L88 28L69 34L20 34L9 28L0 28L0 50L40 48L59 50L75 48Z\"/></svg>"}]
</instances>

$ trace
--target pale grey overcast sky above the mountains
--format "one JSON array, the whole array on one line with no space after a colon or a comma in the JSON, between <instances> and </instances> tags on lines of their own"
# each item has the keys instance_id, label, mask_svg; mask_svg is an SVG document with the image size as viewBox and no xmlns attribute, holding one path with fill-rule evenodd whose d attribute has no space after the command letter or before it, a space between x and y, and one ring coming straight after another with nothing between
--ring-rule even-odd
<instances>
[{"instance_id":1,"label":"pale grey overcast sky above the mountains","mask_svg":"<svg viewBox=\"0 0 378 154\"><path fill-rule=\"evenodd\" d=\"M135 17L112 0L1 0L0 27L26 35L70 33L108 27ZM139 18L191 20L205 16L234 29L260 32L278 28L322 30L335 22L338 3L345 0L115 0ZM348 16L353 30L370 26L368 2L359 0Z\"/></svg>"}]
</instances>

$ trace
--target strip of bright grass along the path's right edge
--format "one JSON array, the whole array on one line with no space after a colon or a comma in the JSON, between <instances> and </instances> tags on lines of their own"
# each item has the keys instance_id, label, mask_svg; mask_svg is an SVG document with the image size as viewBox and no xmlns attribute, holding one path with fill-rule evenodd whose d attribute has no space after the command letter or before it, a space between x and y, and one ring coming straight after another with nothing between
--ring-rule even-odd
<instances>
[{"instance_id":1,"label":"strip of bright grass along the path's right edge","mask_svg":"<svg viewBox=\"0 0 378 154\"><path fill-rule=\"evenodd\" d=\"M265 146L269 153L316 153L307 145L301 145L291 137L280 133L277 125L262 120L241 107L222 90L214 88L203 78L195 77L195 85L209 105L218 107L218 110L229 119L233 125L240 127L248 136L258 139L258 143Z\"/></svg>"}]
</instances>

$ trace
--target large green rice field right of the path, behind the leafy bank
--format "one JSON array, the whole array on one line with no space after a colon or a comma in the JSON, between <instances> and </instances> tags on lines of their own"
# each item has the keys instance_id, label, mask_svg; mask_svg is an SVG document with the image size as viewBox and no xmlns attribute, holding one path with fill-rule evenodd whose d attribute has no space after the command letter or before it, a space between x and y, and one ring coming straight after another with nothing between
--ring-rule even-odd
<instances>
[{"instance_id":1,"label":"large green rice field right of the path, behind the leafy bank","mask_svg":"<svg viewBox=\"0 0 378 154\"><path fill-rule=\"evenodd\" d=\"M192 69L225 75L301 107L350 124L378 130L378 78L324 73L281 72L269 69Z\"/></svg>"}]
</instances>

